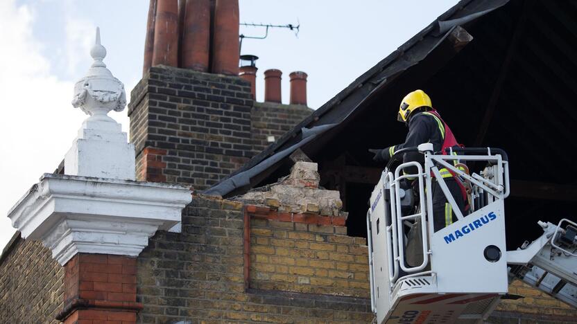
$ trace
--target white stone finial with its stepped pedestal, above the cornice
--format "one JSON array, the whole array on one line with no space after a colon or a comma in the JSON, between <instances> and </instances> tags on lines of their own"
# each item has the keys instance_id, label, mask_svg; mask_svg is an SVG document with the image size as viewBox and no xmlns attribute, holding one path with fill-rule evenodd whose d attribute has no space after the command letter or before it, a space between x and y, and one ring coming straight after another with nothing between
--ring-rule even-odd
<instances>
[{"instance_id":1,"label":"white stone finial with its stepped pedestal, above the cornice","mask_svg":"<svg viewBox=\"0 0 577 324\"><path fill-rule=\"evenodd\" d=\"M101 45L100 28L90 50L94 59L86 76L74 85L72 105L90 117L80 129L64 157L66 174L107 179L135 179L135 147L127 143L126 133L108 111L122 111L126 106L124 84L102 62L106 48Z\"/></svg>"}]
</instances>

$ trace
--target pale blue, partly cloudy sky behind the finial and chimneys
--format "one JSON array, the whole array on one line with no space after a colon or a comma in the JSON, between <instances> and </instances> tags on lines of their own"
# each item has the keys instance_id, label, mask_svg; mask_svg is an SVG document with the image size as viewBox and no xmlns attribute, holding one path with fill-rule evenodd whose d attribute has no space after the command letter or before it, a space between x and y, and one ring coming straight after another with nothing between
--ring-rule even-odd
<instances>
[{"instance_id":1,"label":"pale blue, partly cloudy sky behind the finial and chimneys","mask_svg":"<svg viewBox=\"0 0 577 324\"><path fill-rule=\"evenodd\" d=\"M299 25L298 35L270 29L245 39L257 55L257 100L267 69L309 75L309 107L316 109L428 26L457 0L240 0L240 21ZM96 26L104 62L127 91L142 75L148 0L0 0L0 249L15 229L8 210L64 159L87 116L71 105L74 83L92 59ZM264 28L241 27L246 36ZM130 100L130 99L128 99ZM126 109L109 116L128 132Z\"/></svg>"}]
</instances>

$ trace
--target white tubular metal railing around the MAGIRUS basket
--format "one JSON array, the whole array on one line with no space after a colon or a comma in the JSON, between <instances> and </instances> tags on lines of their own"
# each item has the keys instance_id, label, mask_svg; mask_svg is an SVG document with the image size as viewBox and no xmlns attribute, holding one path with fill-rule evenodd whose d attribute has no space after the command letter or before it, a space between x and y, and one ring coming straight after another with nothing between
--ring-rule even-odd
<instances>
[{"instance_id":1,"label":"white tubular metal railing around the MAGIRUS basket","mask_svg":"<svg viewBox=\"0 0 577 324\"><path fill-rule=\"evenodd\" d=\"M434 233L432 217L433 197L432 190L425 190L425 188L432 188L433 177L438 182L445 197L447 197L447 202L451 205L456 217L458 219L466 217L458 208L453 195L451 195L447 187L447 183L445 183L445 179L440 174L439 168L445 168L452 174L458 175L460 179L470 183L472 208L474 206L482 208L493 201L505 199L510 194L508 161L503 161L500 154L492 154L489 148L486 149L486 154L477 155L435 155L432 152L432 145L427 146L427 144L420 145L419 150L424 154L424 168L420 163L408 162L397 166L394 174L388 169L384 171L384 188L382 190L384 195L386 195L387 189L390 192L390 199L388 199L390 201L390 222L389 219L386 219L386 224L390 224L386 226L386 251L388 255L390 289L393 289L400 279L425 275L431 272L423 270L426 270L432 253L429 251L429 237ZM476 173L467 174L455 165L455 163L460 163L461 161L485 161L491 166L485 168L484 173L481 172L483 175ZM417 173L405 174L404 170L407 168L416 168ZM400 183L404 179L415 179L418 184L416 188L419 205L417 206L417 213L411 215L403 215L402 213L402 188L400 188ZM413 189L415 189L415 186L413 186ZM429 222L427 222L427 215L431 215ZM369 217L368 215L368 222L370 222ZM416 220L420 222L423 260L421 264L412 267L406 263L407 242L404 238L403 226L405 221ZM399 278L399 269L404 271L406 276ZM371 289L373 289L372 285Z\"/></svg>"}]
</instances>

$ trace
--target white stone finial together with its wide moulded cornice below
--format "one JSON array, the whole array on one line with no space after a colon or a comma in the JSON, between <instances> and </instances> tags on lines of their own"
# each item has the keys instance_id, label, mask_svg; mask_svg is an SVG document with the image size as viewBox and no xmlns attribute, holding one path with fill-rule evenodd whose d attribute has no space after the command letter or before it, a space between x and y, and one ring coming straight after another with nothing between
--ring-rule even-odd
<instances>
[{"instance_id":1,"label":"white stone finial together with its wide moulded cornice below","mask_svg":"<svg viewBox=\"0 0 577 324\"><path fill-rule=\"evenodd\" d=\"M134 181L135 146L107 116L124 109L124 86L102 62L98 29L90 54L72 102L90 116L64 156L65 174L44 174L8 212L22 238L41 241L62 265L76 253L137 256L157 231L178 230L191 201L187 187Z\"/></svg>"}]
</instances>

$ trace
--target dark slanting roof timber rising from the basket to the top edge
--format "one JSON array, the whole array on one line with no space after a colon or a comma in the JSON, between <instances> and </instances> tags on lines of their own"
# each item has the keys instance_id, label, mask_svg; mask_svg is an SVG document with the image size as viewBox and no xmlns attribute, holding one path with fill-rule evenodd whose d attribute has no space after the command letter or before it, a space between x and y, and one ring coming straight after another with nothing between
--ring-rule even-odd
<instances>
[{"instance_id":1,"label":"dark slanting roof timber rising from the basket to the top edge","mask_svg":"<svg viewBox=\"0 0 577 324\"><path fill-rule=\"evenodd\" d=\"M501 89L503 89L503 83L507 79L511 60L513 60L513 55L515 55L517 47L519 46L519 41L525 29L527 15L528 12L530 12L531 8L533 7L533 3L534 3L533 0L526 0L523 3L523 9L519 15L519 19L517 20L515 30L513 31L513 35L511 36L510 43L507 48L507 54L505 55L505 59L501 64L499 76L497 77L497 81L494 84L493 91L491 93L487 108L485 108L485 115L483 116L483 121L481 122L481 126L479 127L479 131L477 132L477 137L473 145L475 147L480 146L483 143L485 134L487 134L487 129L489 128L489 125L493 118L493 112L495 110L495 107L497 106L497 100L499 100L499 96L501 95Z\"/></svg>"}]
</instances>

